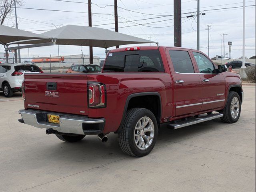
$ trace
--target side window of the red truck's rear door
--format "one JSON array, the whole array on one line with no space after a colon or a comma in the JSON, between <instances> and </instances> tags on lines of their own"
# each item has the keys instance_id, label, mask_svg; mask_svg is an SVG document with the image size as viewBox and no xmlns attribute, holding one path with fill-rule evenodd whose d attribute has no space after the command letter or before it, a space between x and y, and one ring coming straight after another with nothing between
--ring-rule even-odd
<instances>
[{"instance_id":1,"label":"side window of the red truck's rear door","mask_svg":"<svg viewBox=\"0 0 256 192\"><path fill-rule=\"evenodd\" d=\"M187 51L169 51L174 71L178 73L194 73L194 67Z\"/></svg>"}]
</instances>

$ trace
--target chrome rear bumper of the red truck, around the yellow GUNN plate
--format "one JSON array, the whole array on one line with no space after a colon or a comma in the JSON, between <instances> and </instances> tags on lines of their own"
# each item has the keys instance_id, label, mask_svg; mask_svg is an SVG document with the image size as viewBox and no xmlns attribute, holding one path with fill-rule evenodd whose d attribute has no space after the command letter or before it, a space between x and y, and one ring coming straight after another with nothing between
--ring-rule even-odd
<instances>
[{"instance_id":1,"label":"chrome rear bumper of the red truck, around the yellow GUNN plate","mask_svg":"<svg viewBox=\"0 0 256 192\"><path fill-rule=\"evenodd\" d=\"M19 122L32 125L37 128L51 128L60 133L98 135L104 129L105 119L92 119L68 114L59 114L54 112L45 112L37 110L19 110L22 119ZM60 116L60 124L49 123L47 114L56 114Z\"/></svg>"}]
</instances>

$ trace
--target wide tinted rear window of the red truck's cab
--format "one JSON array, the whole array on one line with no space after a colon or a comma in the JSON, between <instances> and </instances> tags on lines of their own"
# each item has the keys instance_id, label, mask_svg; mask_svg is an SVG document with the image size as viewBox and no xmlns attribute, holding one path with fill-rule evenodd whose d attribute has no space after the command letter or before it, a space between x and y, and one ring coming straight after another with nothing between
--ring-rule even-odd
<instances>
[{"instance_id":1,"label":"wide tinted rear window of the red truck's cab","mask_svg":"<svg viewBox=\"0 0 256 192\"><path fill-rule=\"evenodd\" d=\"M108 54L103 72L164 72L159 50L137 50Z\"/></svg>"}]
</instances>

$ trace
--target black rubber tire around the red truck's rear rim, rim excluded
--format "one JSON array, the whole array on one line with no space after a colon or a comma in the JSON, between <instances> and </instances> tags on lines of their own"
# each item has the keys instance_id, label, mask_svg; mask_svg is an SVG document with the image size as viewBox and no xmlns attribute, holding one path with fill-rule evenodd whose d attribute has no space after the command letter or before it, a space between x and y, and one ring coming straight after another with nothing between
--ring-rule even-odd
<instances>
[{"instance_id":1,"label":"black rubber tire around the red truck's rear rim, rim excluded","mask_svg":"<svg viewBox=\"0 0 256 192\"><path fill-rule=\"evenodd\" d=\"M154 125L154 137L148 148L141 150L135 144L134 130L137 122L144 116L149 117ZM124 125L120 133L118 133L119 146L123 152L128 155L142 157L149 154L156 144L158 135L158 125L154 114L145 108L132 108L126 113Z\"/></svg>"}]
</instances>

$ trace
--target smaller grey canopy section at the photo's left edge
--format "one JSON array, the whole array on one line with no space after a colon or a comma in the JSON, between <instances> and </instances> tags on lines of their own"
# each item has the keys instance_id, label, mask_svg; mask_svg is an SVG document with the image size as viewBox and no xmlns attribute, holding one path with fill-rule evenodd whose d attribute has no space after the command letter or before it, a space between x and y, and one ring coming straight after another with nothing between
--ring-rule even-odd
<instances>
[{"instance_id":1,"label":"smaller grey canopy section at the photo's left edge","mask_svg":"<svg viewBox=\"0 0 256 192\"><path fill-rule=\"evenodd\" d=\"M10 42L30 39L49 38L41 34L35 34L24 30L0 25L0 44L6 45ZM49 39L48 39L49 41Z\"/></svg>"}]
</instances>

